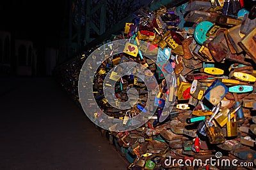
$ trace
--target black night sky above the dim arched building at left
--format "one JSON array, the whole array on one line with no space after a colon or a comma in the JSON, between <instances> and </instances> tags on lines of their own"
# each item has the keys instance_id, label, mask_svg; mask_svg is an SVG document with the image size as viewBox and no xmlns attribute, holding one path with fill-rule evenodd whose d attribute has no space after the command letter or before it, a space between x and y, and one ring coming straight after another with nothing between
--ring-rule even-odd
<instances>
[{"instance_id":1,"label":"black night sky above the dim arched building at left","mask_svg":"<svg viewBox=\"0 0 256 170\"><path fill-rule=\"evenodd\" d=\"M10 0L0 3L0 29L12 31L15 38L35 43L56 43L60 36L65 0Z\"/></svg>"}]
</instances>

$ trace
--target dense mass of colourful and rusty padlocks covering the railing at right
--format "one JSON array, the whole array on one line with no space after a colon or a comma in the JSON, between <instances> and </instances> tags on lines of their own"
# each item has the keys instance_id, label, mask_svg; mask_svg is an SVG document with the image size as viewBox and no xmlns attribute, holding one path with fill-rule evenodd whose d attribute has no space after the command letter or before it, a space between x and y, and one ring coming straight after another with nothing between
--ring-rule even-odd
<instances>
[{"instance_id":1,"label":"dense mass of colourful and rusty padlocks covering the railing at right","mask_svg":"<svg viewBox=\"0 0 256 170\"><path fill-rule=\"evenodd\" d=\"M150 70L145 76L158 82L153 99L157 110L147 123L132 131L107 132L109 143L131 163L127 169L255 168L256 6L252 10L243 6L238 0L189 1L156 11L141 9L134 13L134 23L126 23L122 34L109 39L137 43L127 48L128 53L124 50L105 60L95 73L93 94L104 113L123 124L136 124L130 118L152 110L145 108L150 87L133 75L136 69L121 78L114 69L110 79L118 82L113 94L116 106L128 100L131 88L138 90L138 102L123 111L109 105L103 82L111 68L137 62ZM156 62L141 54L138 40L157 48ZM58 81L76 101L80 69L90 52L56 70L56 75L65 74ZM174 78L166 81L164 73ZM173 107L164 115L168 102ZM95 119L100 119L99 113Z\"/></svg>"}]
</instances>

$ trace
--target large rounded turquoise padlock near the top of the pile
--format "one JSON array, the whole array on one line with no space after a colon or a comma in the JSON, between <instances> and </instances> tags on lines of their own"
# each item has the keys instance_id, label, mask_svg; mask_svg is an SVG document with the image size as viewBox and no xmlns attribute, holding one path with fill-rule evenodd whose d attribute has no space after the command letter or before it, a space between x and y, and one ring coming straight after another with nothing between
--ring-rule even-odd
<instances>
[{"instance_id":1,"label":"large rounded turquoise padlock near the top of the pile","mask_svg":"<svg viewBox=\"0 0 256 170\"><path fill-rule=\"evenodd\" d=\"M206 33L211 29L213 25L214 24L212 22L209 22L207 20L202 21L198 25L196 25L194 31L194 38L197 43L202 45L204 41L209 38L208 36L206 36Z\"/></svg>"}]
</instances>

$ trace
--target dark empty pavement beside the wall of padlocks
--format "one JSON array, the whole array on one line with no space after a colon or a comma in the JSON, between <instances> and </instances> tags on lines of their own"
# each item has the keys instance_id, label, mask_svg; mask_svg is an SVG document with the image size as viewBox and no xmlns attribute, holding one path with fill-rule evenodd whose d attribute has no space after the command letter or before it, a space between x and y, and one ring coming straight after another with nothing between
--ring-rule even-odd
<instances>
[{"instance_id":1,"label":"dark empty pavement beside the wall of padlocks","mask_svg":"<svg viewBox=\"0 0 256 170\"><path fill-rule=\"evenodd\" d=\"M51 77L0 78L0 169L126 169Z\"/></svg>"}]
</instances>

